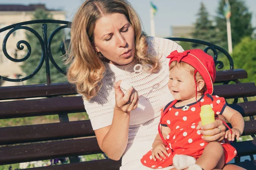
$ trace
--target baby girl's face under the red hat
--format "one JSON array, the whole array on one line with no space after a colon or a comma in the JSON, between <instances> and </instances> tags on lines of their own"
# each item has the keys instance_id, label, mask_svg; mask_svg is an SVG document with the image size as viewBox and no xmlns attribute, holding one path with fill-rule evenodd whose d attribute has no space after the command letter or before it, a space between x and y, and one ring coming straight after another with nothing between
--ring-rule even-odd
<instances>
[{"instance_id":1,"label":"baby girl's face under the red hat","mask_svg":"<svg viewBox=\"0 0 256 170\"><path fill-rule=\"evenodd\" d=\"M168 88L176 100L195 97L195 80L186 68L173 68L169 73Z\"/></svg>"}]
</instances>

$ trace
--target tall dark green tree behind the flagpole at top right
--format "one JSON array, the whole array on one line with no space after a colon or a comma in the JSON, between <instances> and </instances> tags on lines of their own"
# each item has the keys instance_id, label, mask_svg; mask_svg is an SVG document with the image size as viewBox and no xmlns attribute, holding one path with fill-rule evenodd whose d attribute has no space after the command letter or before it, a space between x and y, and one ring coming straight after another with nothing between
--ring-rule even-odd
<instances>
[{"instance_id":1,"label":"tall dark green tree behind the flagpole at top right","mask_svg":"<svg viewBox=\"0 0 256 170\"><path fill-rule=\"evenodd\" d=\"M231 34L233 47L236 46L243 37L251 36L255 28L251 25L252 13L248 11L243 0L229 0L231 6ZM222 48L227 49L227 24L223 7L225 0L220 0L215 17L216 28L218 28L219 43Z\"/></svg>"}]
</instances>

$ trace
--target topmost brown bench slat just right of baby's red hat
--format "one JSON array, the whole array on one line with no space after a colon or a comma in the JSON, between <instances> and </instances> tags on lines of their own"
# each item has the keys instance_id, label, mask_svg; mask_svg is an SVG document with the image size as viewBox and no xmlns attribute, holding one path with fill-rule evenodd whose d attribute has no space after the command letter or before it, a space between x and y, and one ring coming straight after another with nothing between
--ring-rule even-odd
<instances>
[{"instance_id":1,"label":"topmost brown bench slat just right of baby's red hat","mask_svg":"<svg viewBox=\"0 0 256 170\"><path fill-rule=\"evenodd\" d=\"M236 79L247 79L247 72L242 69L216 71L216 83Z\"/></svg>"}]
</instances>

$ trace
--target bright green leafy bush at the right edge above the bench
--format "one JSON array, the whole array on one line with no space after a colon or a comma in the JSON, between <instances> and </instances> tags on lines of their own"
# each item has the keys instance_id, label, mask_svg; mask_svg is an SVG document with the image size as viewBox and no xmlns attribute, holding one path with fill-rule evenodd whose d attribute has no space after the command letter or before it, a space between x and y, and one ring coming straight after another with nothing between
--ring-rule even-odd
<instances>
[{"instance_id":1,"label":"bright green leafy bush at the right edge above the bench","mask_svg":"<svg viewBox=\"0 0 256 170\"><path fill-rule=\"evenodd\" d=\"M235 68L247 71L248 78L242 82L256 83L256 40L251 37L244 37L233 50L232 58Z\"/></svg>"}]
</instances>

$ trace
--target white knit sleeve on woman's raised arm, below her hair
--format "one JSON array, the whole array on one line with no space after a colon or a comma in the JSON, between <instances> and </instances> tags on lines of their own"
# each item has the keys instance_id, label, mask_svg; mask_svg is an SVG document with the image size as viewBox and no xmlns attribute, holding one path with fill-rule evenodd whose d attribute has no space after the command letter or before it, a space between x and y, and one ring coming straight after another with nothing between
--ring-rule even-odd
<instances>
[{"instance_id":1,"label":"white knit sleeve on woman's raised arm, below her hair","mask_svg":"<svg viewBox=\"0 0 256 170\"><path fill-rule=\"evenodd\" d=\"M89 116L93 130L112 124L114 108L111 102L102 95L101 91L89 101L84 99L84 108Z\"/></svg>"}]
</instances>

